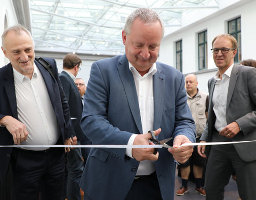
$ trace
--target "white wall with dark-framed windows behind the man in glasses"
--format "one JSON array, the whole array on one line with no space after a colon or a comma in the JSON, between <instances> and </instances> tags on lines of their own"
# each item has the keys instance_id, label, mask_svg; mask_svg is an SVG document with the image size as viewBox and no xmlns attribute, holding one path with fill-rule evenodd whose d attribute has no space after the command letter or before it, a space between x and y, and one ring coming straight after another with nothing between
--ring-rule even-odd
<instances>
[{"instance_id":1,"label":"white wall with dark-framed windows behind the man in glasses","mask_svg":"<svg viewBox=\"0 0 256 200\"><path fill-rule=\"evenodd\" d=\"M254 50L256 46L256 0L236 2L230 5L228 1L220 1L220 6L225 8L165 36L162 40L158 61L175 67L175 42L182 39L182 73L195 73L198 77L199 90L208 92L207 81L217 72L210 50L212 39L219 34L227 33L227 21L236 17L241 17L242 60L249 58L256 60ZM198 71L197 61L197 35L204 30L207 30L207 69L216 69L208 72L207 70Z\"/></svg>"}]
</instances>

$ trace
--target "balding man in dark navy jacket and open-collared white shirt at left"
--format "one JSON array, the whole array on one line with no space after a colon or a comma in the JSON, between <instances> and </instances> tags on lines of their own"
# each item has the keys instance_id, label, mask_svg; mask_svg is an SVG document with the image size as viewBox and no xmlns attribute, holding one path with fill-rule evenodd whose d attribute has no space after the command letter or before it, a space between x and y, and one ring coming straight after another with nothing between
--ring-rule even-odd
<instances>
[{"instance_id":1,"label":"balding man in dark navy jacket and open-collared white shirt at left","mask_svg":"<svg viewBox=\"0 0 256 200\"><path fill-rule=\"evenodd\" d=\"M20 25L4 31L2 50L10 63L0 68L0 144L71 145L74 130L55 60L45 58L53 78L35 60L33 38ZM64 156L64 148L1 148L0 182L12 169L14 199L37 199L39 190L41 199L61 199Z\"/></svg>"}]
</instances>

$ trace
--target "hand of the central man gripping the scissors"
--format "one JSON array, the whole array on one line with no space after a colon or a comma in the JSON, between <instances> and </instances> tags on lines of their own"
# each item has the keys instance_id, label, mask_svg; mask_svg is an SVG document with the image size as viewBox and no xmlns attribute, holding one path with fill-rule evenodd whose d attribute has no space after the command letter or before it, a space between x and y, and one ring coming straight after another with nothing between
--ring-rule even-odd
<instances>
[{"instance_id":1,"label":"hand of the central man gripping the scissors","mask_svg":"<svg viewBox=\"0 0 256 200\"><path fill-rule=\"evenodd\" d=\"M158 135L161 129L154 131L155 135ZM152 138L150 133L138 134L133 142L133 145L154 145L153 142L148 142ZM154 154L154 148L133 148L132 157L137 161L157 161L159 153Z\"/></svg>"}]
</instances>

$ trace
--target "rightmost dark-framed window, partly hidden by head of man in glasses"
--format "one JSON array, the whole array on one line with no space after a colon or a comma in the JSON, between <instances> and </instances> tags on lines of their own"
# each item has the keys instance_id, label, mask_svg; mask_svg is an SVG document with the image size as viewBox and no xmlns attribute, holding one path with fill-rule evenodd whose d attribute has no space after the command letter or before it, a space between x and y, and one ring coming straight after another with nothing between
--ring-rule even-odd
<instances>
[{"instance_id":1,"label":"rightmost dark-framed window, partly hidden by head of man in glasses","mask_svg":"<svg viewBox=\"0 0 256 200\"><path fill-rule=\"evenodd\" d=\"M228 21L228 33L233 35L238 43L238 49L234 62L239 62L241 58L241 17Z\"/></svg>"}]
</instances>

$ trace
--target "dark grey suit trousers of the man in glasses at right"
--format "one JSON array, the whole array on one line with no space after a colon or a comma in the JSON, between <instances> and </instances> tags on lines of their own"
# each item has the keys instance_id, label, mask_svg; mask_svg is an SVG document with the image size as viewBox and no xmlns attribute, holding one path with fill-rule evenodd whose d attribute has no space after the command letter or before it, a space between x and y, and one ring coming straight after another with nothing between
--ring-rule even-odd
<instances>
[{"instance_id":1,"label":"dark grey suit trousers of the man in glasses at right","mask_svg":"<svg viewBox=\"0 0 256 200\"><path fill-rule=\"evenodd\" d=\"M224 198L224 188L234 170L237 174L239 196L246 200L255 199L255 169L256 161L243 161L237 154L234 145L212 146L205 174L206 200L222 200Z\"/></svg>"}]
</instances>

